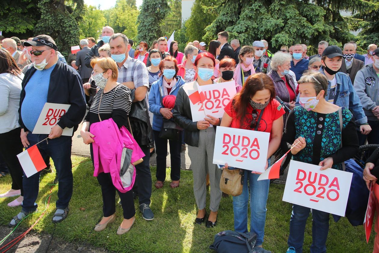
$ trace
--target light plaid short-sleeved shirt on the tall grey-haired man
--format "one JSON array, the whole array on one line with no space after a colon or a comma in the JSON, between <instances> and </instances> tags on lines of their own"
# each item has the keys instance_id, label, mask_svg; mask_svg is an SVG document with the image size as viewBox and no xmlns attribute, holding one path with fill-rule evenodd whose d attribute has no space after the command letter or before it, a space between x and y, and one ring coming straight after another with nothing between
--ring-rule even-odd
<instances>
[{"instance_id":1,"label":"light plaid short-sleeved shirt on the tall grey-haired man","mask_svg":"<svg viewBox=\"0 0 379 253\"><path fill-rule=\"evenodd\" d=\"M117 65L119 75L117 82L134 82L134 87L146 86L149 88L149 74L146 65L137 59L128 57L121 68Z\"/></svg>"}]
</instances>

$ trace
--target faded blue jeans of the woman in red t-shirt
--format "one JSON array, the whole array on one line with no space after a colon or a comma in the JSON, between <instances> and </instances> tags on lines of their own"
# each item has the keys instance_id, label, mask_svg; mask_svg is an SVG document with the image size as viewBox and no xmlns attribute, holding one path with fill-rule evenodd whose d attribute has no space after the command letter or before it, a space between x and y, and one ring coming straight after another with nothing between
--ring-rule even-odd
<instances>
[{"instance_id":1,"label":"faded blue jeans of the woman in red t-shirt","mask_svg":"<svg viewBox=\"0 0 379 253\"><path fill-rule=\"evenodd\" d=\"M258 174L245 170L242 193L233 196L234 230L247 233L247 205L250 195L250 232L257 234L257 246L262 245L265 235L266 202L270 186L269 180L257 181L258 177Z\"/></svg>"}]
</instances>

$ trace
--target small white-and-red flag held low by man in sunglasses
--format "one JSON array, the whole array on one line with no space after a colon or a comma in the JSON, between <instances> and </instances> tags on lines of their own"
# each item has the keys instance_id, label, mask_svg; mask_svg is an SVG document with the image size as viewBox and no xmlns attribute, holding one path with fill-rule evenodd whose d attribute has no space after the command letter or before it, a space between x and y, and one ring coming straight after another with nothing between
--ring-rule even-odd
<instances>
[{"instance_id":1,"label":"small white-and-red flag held low by man in sunglasses","mask_svg":"<svg viewBox=\"0 0 379 253\"><path fill-rule=\"evenodd\" d=\"M47 167L37 145L31 146L27 150L17 155L20 165L27 177L33 176L38 171Z\"/></svg>"}]
</instances>

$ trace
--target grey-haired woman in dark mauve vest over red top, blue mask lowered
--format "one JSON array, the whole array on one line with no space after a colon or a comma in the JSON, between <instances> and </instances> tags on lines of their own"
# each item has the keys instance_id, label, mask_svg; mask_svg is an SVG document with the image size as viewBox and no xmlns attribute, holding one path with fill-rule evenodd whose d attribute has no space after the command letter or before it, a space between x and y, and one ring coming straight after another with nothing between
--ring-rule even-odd
<instances>
[{"instance_id":1,"label":"grey-haired woman in dark mauve vest over red top, blue mask lowered","mask_svg":"<svg viewBox=\"0 0 379 253\"><path fill-rule=\"evenodd\" d=\"M274 81L276 95L292 110L295 107L296 90L293 78L289 75L292 56L289 53L277 52L271 58L271 71L268 76ZM289 112L283 117L284 125Z\"/></svg>"}]
</instances>

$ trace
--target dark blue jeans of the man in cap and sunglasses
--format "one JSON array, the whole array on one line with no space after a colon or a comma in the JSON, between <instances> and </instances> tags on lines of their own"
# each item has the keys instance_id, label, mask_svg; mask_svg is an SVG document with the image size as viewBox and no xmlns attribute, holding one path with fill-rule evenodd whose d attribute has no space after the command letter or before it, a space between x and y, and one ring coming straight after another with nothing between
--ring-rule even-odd
<instances>
[{"instance_id":1,"label":"dark blue jeans of the man in cap and sunglasses","mask_svg":"<svg viewBox=\"0 0 379 253\"><path fill-rule=\"evenodd\" d=\"M46 138L47 134L31 134L28 133L28 141L31 146ZM37 145L42 158L50 156L53 159L56 172L58 174L58 200L56 208L66 208L69 205L72 196L72 163L71 163L71 145L72 138L70 136L61 136L55 139L47 139ZM23 176L22 185L24 190L24 199L22 201L22 211L25 213L34 212L37 205L39 191L39 174L34 174L27 178Z\"/></svg>"}]
</instances>

